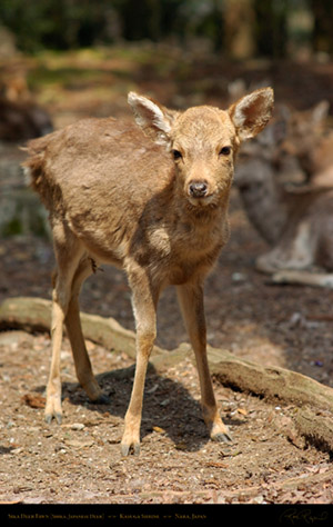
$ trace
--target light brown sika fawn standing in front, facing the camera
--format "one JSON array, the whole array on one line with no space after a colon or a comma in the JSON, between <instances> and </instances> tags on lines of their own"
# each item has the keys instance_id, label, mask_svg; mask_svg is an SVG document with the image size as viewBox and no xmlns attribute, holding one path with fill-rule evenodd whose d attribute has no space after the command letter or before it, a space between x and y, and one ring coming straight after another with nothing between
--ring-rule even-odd
<instances>
[{"instance_id":1,"label":"light brown sika fawn standing in front, facing the camera","mask_svg":"<svg viewBox=\"0 0 333 527\"><path fill-rule=\"evenodd\" d=\"M265 127L273 91L258 90L226 111L203 106L176 112L133 92L129 103L139 127L112 118L82 120L32 140L24 163L33 189L50 211L57 258L46 420L61 421L63 322L80 384L91 400L104 401L84 346L78 296L99 264L121 267L132 289L137 324L135 376L121 441L124 456L140 451L157 304L168 285L178 289L211 438L230 440L209 372L203 280L229 238L228 203L236 151L243 139Z\"/></svg>"}]
</instances>

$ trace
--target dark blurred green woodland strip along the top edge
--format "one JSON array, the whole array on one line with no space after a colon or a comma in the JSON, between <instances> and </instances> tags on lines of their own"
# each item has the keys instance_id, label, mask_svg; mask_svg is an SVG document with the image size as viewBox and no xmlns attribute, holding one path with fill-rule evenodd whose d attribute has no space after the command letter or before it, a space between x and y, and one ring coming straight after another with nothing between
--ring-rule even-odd
<instances>
[{"instance_id":1,"label":"dark blurred green woodland strip along the top edge","mask_svg":"<svg viewBox=\"0 0 333 527\"><path fill-rule=\"evenodd\" d=\"M0 26L26 52L204 37L226 53L246 26L255 54L283 57L294 39L289 20L296 11L313 20L306 43L333 52L332 0L0 0Z\"/></svg>"}]
</instances>

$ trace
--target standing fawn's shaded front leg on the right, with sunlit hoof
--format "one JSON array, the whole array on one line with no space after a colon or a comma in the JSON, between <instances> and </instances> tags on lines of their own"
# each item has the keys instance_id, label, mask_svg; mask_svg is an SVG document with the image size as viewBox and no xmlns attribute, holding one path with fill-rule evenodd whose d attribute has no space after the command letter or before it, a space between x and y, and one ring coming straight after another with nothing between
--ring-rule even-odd
<instances>
[{"instance_id":1,"label":"standing fawn's shaded front leg on the right, with sunlit hoof","mask_svg":"<svg viewBox=\"0 0 333 527\"><path fill-rule=\"evenodd\" d=\"M211 439L229 443L231 436L220 417L209 371L202 286L185 284L178 286L176 289L184 322L195 354L204 421L210 430Z\"/></svg>"}]
</instances>

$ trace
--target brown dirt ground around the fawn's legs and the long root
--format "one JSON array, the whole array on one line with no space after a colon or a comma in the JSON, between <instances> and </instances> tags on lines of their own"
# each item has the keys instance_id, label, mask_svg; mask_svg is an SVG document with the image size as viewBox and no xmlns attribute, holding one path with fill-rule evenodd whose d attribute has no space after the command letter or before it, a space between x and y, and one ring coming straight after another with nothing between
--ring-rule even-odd
<instances>
[{"instance_id":1,"label":"brown dirt ground around the fawn's legs and the long root","mask_svg":"<svg viewBox=\"0 0 333 527\"><path fill-rule=\"evenodd\" d=\"M249 225L235 189L231 226L231 240L206 280L209 342L333 387L333 291L273 286L254 270L254 258L265 245ZM50 298L50 241L0 239L0 302L14 296ZM133 329L130 290L119 270L105 267L89 279L81 308ZM157 344L171 350L186 340L174 291L167 290ZM122 458L133 361L92 342L88 348L111 404L89 402L64 339L63 424L47 425L49 336L0 334L0 503L332 504L331 455L297 436L291 420L294 407L234 391L214 379L233 444L209 440L189 359L149 370L141 455Z\"/></svg>"}]
</instances>

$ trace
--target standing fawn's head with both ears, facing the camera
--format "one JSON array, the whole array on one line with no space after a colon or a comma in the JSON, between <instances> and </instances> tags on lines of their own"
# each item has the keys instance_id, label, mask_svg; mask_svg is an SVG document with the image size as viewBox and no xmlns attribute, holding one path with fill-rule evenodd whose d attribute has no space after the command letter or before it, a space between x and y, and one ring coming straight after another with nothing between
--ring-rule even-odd
<instances>
[{"instance_id":1,"label":"standing fawn's head with both ears, facing the camera","mask_svg":"<svg viewBox=\"0 0 333 527\"><path fill-rule=\"evenodd\" d=\"M256 90L228 110L201 106L178 112L134 92L129 103L143 131L171 152L183 196L205 207L228 193L241 141L256 136L271 118L273 90Z\"/></svg>"}]
</instances>

